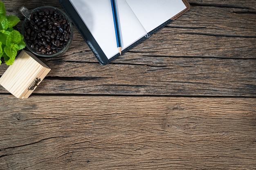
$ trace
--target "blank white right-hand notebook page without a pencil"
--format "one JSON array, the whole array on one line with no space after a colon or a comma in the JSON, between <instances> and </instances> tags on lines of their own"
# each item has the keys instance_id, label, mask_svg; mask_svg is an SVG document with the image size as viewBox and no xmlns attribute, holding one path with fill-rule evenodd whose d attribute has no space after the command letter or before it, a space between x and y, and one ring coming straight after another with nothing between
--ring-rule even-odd
<instances>
[{"instance_id":1,"label":"blank white right-hand notebook page without a pencil","mask_svg":"<svg viewBox=\"0 0 256 170\"><path fill-rule=\"evenodd\" d=\"M182 0L126 0L126 2L147 32L186 9Z\"/></svg>"}]
</instances>

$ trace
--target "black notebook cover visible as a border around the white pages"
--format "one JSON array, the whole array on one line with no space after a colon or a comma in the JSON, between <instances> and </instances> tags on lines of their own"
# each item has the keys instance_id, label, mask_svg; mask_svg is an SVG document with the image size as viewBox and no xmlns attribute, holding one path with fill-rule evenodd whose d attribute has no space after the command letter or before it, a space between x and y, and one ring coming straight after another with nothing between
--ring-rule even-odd
<instances>
[{"instance_id":1,"label":"black notebook cover visible as a border around the white pages","mask_svg":"<svg viewBox=\"0 0 256 170\"><path fill-rule=\"evenodd\" d=\"M72 3L69 0L59 0L62 7L65 9L68 16L70 16L72 22L74 23L75 27L78 29L79 33L87 43L88 47L92 50L94 56L98 59L99 63L101 65L106 65L110 63L111 61L115 60L117 57L120 56L119 53L117 53L115 56L112 56L111 58L107 58L101 47L99 46L98 42L95 40L95 38L92 36L90 30L85 25L81 17L79 16L79 13L77 13L76 9L73 7ZM172 22L173 19L180 16L182 13L186 12L189 9L189 3L186 0L183 0L184 4L186 5L186 9L182 12L178 13L173 18L167 20L166 22L162 23L152 31L148 32L145 36L137 40L136 42L132 43L132 45L126 47L122 50L122 54L126 53L131 48L135 47L139 43L143 42L144 40L148 39L151 35L155 34L155 32L159 31L163 27L165 27L168 23Z\"/></svg>"}]
</instances>

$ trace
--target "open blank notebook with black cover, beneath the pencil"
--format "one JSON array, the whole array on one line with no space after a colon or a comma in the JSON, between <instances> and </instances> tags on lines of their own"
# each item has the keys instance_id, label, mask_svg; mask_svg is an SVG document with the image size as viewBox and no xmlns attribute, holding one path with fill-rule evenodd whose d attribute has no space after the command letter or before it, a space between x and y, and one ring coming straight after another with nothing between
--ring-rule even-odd
<instances>
[{"instance_id":1,"label":"open blank notebook with black cover, beneath the pencil","mask_svg":"<svg viewBox=\"0 0 256 170\"><path fill-rule=\"evenodd\" d=\"M120 56L110 0L59 0L102 65ZM122 54L189 9L186 0L116 0Z\"/></svg>"}]
</instances>

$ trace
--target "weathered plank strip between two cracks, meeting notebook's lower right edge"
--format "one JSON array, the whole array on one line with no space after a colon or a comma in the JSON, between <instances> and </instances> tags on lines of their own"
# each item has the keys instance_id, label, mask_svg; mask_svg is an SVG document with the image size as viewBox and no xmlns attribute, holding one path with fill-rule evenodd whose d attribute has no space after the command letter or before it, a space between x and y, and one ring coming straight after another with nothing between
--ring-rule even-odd
<instances>
[{"instance_id":1,"label":"weathered plank strip between two cracks, meeting notebook's lower right edge","mask_svg":"<svg viewBox=\"0 0 256 170\"><path fill-rule=\"evenodd\" d=\"M146 56L186 56L211 58L255 58L256 38L185 34L162 29L159 33L131 49ZM132 54L134 55L134 54Z\"/></svg>"}]
</instances>

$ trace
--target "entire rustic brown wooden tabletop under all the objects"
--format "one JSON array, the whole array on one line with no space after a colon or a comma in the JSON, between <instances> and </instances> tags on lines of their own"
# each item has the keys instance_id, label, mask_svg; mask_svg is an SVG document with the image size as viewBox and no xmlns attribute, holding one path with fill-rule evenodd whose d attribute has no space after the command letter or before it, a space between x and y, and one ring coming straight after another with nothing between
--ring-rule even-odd
<instances>
[{"instance_id":1,"label":"entire rustic brown wooden tabletop under all the objects","mask_svg":"<svg viewBox=\"0 0 256 170\"><path fill-rule=\"evenodd\" d=\"M256 0L189 3L106 66L75 29L28 99L1 86L0 170L256 169Z\"/></svg>"}]
</instances>

